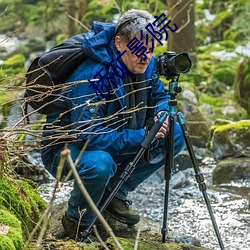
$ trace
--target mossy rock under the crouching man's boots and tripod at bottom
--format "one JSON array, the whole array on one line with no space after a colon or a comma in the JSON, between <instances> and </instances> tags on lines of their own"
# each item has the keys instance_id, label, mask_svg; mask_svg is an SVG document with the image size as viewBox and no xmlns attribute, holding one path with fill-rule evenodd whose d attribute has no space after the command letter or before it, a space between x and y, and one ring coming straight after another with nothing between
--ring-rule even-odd
<instances>
[{"instance_id":1,"label":"mossy rock under the crouching man's boots and tripod at bottom","mask_svg":"<svg viewBox=\"0 0 250 250\"><path fill-rule=\"evenodd\" d=\"M62 240L57 239L56 236L58 234L62 235L63 227L61 224L61 217L65 213L67 208L67 204L61 203L55 205L52 209L51 222L49 224L47 230L47 238L44 240L44 245L46 245L46 241L49 241L53 246L64 245L69 247L69 242L71 243L72 249L73 246L84 246L84 249L103 249L100 247L100 244L92 243L86 244L84 243L76 243L73 241L68 241L67 238ZM155 250L209 250L208 248L204 248L200 246L199 240L193 237L186 236L176 236L172 232L169 233L169 237L167 237L167 243L161 242L161 230L158 226L150 223L149 220L141 219L141 222L135 226L128 226L126 224L120 223L119 221L114 220L112 217L108 215L104 215L106 221L109 223L112 228L114 234L118 237L119 242L122 244L124 249L132 250L134 249L136 235L138 230L140 230L139 236L139 249L155 249ZM104 230L101 226L98 226L99 230ZM80 245L79 245L80 244ZM114 249L114 243L111 238L106 239L106 244L111 247L110 249ZM47 243L48 245L48 243ZM93 248L91 248L91 246ZM94 248L96 247L96 248ZM60 249L69 249L69 248L60 248ZM78 248L76 248L78 249Z\"/></svg>"}]
</instances>

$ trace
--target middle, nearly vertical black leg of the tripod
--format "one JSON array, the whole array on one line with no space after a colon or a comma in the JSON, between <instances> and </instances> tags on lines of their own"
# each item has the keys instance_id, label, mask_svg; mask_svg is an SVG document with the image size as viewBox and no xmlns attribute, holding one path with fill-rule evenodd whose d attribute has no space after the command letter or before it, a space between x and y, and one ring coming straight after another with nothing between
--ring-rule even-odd
<instances>
[{"instance_id":1,"label":"middle, nearly vertical black leg of the tripod","mask_svg":"<svg viewBox=\"0 0 250 250\"><path fill-rule=\"evenodd\" d=\"M166 138L166 162L165 162L165 197L164 197L164 213L163 213L163 225L162 225L162 242L166 242L166 235L168 232L167 220L168 220L168 199L169 199L169 183L172 176L172 169L174 165L174 122L173 115L169 115L169 132Z\"/></svg>"}]
</instances>

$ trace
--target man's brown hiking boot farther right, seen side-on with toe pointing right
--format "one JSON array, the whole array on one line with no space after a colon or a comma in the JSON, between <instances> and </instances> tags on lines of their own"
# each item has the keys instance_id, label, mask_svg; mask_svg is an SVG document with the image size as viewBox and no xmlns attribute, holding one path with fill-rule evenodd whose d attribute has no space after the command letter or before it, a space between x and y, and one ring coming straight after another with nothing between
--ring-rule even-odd
<instances>
[{"instance_id":1,"label":"man's brown hiking boot farther right, seen side-on with toe pointing right","mask_svg":"<svg viewBox=\"0 0 250 250\"><path fill-rule=\"evenodd\" d=\"M132 201L114 197L105 211L122 223L134 225L140 221L140 216L130 208L131 205Z\"/></svg>"}]
</instances>

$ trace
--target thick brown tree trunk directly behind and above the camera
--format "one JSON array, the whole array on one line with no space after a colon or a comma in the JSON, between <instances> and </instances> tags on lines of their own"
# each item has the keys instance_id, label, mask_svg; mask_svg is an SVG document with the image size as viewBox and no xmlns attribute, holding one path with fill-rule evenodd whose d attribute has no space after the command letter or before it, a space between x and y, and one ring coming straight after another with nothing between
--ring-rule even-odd
<instances>
[{"instance_id":1,"label":"thick brown tree trunk directly behind and above the camera","mask_svg":"<svg viewBox=\"0 0 250 250\"><path fill-rule=\"evenodd\" d=\"M177 53L188 52L192 60L195 61L195 0L167 0L167 4L169 9L168 20L178 26L176 32L170 31L168 33L168 50Z\"/></svg>"}]
</instances>

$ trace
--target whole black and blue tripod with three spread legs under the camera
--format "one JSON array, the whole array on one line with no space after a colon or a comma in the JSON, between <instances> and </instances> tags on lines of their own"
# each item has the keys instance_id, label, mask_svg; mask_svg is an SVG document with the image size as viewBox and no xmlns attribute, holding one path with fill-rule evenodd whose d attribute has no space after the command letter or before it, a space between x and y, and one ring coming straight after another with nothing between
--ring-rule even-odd
<instances>
[{"instance_id":1,"label":"whole black and blue tripod with three spread legs under the camera","mask_svg":"<svg viewBox=\"0 0 250 250\"><path fill-rule=\"evenodd\" d=\"M134 159L130 163L128 163L128 165L124 169L123 173L120 176L120 180L119 180L118 184L113 189L113 191L110 193L110 195L108 196L106 201L102 204L102 206L100 208L100 212L102 213L107 208L107 206L112 201L112 199L114 198L114 196L116 195L116 193L118 192L118 190L120 189L122 184L132 174L132 172L134 171L134 169L136 167L136 164L138 163L138 161L140 160L140 158L142 157L144 152L147 150L150 143L155 138L155 135L157 134L157 132L161 128L161 126L162 126L163 122L166 120L167 116L169 116L169 131L168 131L168 136L166 137L166 144L167 144L168 151L166 153L166 161L165 161L165 180L166 180L166 182L165 182L164 215L163 215L163 226L162 226L162 242L163 243L166 242L166 234L168 232L168 230L167 230L167 215L168 215L169 182L171 179L172 169L173 169L173 164L174 164L174 123L175 123L175 119L177 117L178 122L181 126L181 130L182 130L185 142L186 142L186 146L187 146L192 164L194 166L196 181L199 184L199 189L202 192L203 197L205 199L206 206L207 206L207 209L208 209L208 212L209 212L209 215L210 215L210 218L211 218L211 221L212 221L220 248L221 248L221 250L224 250L225 248L224 248L223 242L221 240L220 232L219 232L218 226L216 224L215 217L213 215L213 211L212 211L212 208L211 208L211 205L210 205L210 202L208 199L208 195L206 192L206 184L204 182L203 175L199 170L198 162L196 160L193 148L192 148L191 143L190 143L188 131L186 129L186 125L185 125L185 121L184 121L184 117L180 112L177 113L177 111L176 111L177 110L176 109L177 100L175 99L175 97L176 97L177 93L180 93L182 91L181 87L178 86L178 80L179 80L179 77L177 77L176 80L172 79L169 83L169 94L170 94L170 100L168 101L169 113L168 114L167 114L167 112L161 113L159 119L155 122L155 124L153 125L149 134L142 141L140 150L138 151L138 153L136 154ZM96 220L97 220L97 216L94 217L93 221L90 223L90 225L87 227L87 229L85 229L84 232L82 233L83 240L87 239L87 237L88 237L89 233L91 232L92 227L94 226Z\"/></svg>"}]
</instances>

